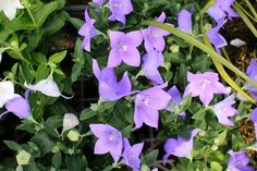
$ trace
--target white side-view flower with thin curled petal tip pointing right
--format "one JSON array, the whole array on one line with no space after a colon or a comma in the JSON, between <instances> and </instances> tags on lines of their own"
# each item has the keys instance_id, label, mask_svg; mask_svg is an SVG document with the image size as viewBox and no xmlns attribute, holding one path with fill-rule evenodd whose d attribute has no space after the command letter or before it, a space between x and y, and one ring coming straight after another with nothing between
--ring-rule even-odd
<instances>
[{"instance_id":1,"label":"white side-view flower with thin curled petal tip pointing right","mask_svg":"<svg viewBox=\"0 0 257 171\"><path fill-rule=\"evenodd\" d=\"M40 82L38 82L35 85L27 84L26 82L24 85L25 85L25 87L27 87L30 90L40 91L41 94L50 96L50 97L62 96L63 98L70 98L70 97L63 96L60 93L57 83L51 77L48 77L46 80L41 80Z\"/></svg>"}]
</instances>

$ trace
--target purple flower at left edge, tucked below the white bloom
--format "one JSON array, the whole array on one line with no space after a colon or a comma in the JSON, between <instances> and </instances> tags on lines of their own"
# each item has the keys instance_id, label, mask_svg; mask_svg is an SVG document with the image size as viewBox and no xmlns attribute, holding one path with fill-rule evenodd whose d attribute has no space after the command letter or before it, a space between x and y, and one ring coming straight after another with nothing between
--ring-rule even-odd
<instances>
[{"instance_id":1,"label":"purple flower at left edge, tucked below the white bloom","mask_svg":"<svg viewBox=\"0 0 257 171\"><path fill-rule=\"evenodd\" d=\"M20 95L16 95L16 97L10 99L5 103L7 111L3 112L0 118L2 118L4 114L12 112L20 119L27 119L30 117L30 106L28 103L28 95L29 89L25 91L25 99L21 97Z\"/></svg>"}]
</instances>

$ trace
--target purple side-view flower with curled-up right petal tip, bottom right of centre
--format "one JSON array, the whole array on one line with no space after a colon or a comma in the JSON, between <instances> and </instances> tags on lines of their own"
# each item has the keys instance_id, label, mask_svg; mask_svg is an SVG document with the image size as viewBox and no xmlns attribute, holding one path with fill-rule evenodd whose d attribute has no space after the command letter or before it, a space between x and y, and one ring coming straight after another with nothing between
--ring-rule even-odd
<instances>
[{"instance_id":1,"label":"purple side-view flower with curled-up right petal tip, bottom right of centre","mask_svg":"<svg viewBox=\"0 0 257 171\"><path fill-rule=\"evenodd\" d=\"M169 138L164 144L166 155L163 156L163 163L167 162L170 155L176 157L187 157L193 149L194 137L200 132L199 129L195 129L191 132L191 138L185 139L181 136L178 139Z\"/></svg>"}]
</instances>

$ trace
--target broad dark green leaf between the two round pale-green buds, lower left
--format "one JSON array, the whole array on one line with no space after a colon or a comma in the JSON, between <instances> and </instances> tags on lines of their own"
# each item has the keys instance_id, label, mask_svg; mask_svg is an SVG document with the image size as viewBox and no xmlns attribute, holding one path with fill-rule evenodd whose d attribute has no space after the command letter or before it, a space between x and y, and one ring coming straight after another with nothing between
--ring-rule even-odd
<instances>
[{"instance_id":1,"label":"broad dark green leaf between the two round pale-green buds, lower left","mask_svg":"<svg viewBox=\"0 0 257 171\"><path fill-rule=\"evenodd\" d=\"M35 143L41 151L41 155L50 152L56 143L50 139L49 135L45 131L40 131L34 135L32 142Z\"/></svg>"}]
</instances>

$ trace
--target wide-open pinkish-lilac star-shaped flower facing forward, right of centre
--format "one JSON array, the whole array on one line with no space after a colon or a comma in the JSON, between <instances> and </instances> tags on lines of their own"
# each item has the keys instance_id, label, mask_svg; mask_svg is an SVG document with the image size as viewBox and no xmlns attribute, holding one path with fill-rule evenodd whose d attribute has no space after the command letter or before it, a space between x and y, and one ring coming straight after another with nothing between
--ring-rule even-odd
<instances>
[{"instance_id":1,"label":"wide-open pinkish-lilac star-shaped flower facing forward, right of centre","mask_svg":"<svg viewBox=\"0 0 257 171\"><path fill-rule=\"evenodd\" d=\"M192 97L199 96L200 101L208 106L213 98L213 94L228 94L225 87L219 82L219 76L213 72L204 74L193 74L187 72L187 81L184 97L192 93Z\"/></svg>"}]
</instances>

